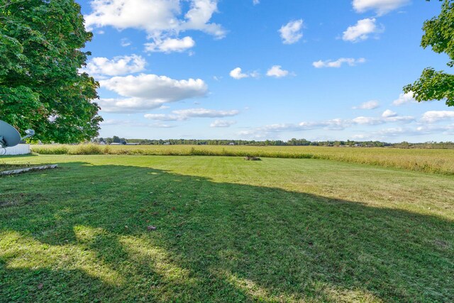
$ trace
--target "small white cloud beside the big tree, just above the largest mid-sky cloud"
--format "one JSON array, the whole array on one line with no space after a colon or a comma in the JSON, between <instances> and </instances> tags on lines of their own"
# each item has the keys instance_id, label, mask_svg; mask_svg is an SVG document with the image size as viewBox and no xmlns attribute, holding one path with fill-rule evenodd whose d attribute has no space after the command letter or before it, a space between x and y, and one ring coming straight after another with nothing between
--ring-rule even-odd
<instances>
[{"instance_id":1,"label":"small white cloud beside the big tree, just above the largest mid-sky cloud","mask_svg":"<svg viewBox=\"0 0 454 303\"><path fill-rule=\"evenodd\" d=\"M118 56L112 59L106 57L94 57L82 68L92 76L118 76L134 72L142 72L146 61L139 55Z\"/></svg>"}]
</instances>

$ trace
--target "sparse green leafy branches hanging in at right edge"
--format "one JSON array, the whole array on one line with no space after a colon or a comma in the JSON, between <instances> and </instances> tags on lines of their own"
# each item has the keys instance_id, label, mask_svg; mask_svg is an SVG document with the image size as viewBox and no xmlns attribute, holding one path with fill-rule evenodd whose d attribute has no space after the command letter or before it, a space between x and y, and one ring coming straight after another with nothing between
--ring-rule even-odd
<instances>
[{"instance_id":1,"label":"sparse green leafy branches hanging in at right edge","mask_svg":"<svg viewBox=\"0 0 454 303\"><path fill-rule=\"evenodd\" d=\"M454 1L444 0L440 15L424 22L423 31L421 46L447 54L450 58L447 65L453 67ZM416 101L445 100L448 106L454 106L454 75L427 67L414 84L404 87L404 92L413 92Z\"/></svg>"}]
</instances>

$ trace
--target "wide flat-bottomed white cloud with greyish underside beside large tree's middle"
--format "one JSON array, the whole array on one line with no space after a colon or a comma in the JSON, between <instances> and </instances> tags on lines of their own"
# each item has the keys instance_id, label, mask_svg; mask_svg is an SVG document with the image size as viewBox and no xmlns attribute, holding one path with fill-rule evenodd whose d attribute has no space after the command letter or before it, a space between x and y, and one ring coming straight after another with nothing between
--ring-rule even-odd
<instances>
[{"instance_id":1,"label":"wide flat-bottomed white cloud with greyish underside beside large tree's middle","mask_svg":"<svg viewBox=\"0 0 454 303\"><path fill-rule=\"evenodd\" d=\"M113 77L101 80L99 84L121 96L117 99L99 99L101 110L118 113L147 111L168 102L204 97L208 91L201 79L176 80L147 74Z\"/></svg>"}]
</instances>

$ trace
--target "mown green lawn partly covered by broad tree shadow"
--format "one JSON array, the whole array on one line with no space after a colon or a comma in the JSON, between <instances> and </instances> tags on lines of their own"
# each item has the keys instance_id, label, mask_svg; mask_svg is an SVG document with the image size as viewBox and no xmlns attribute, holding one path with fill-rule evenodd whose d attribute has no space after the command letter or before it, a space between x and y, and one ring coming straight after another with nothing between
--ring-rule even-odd
<instances>
[{"instance_id":1,"label":"mown green lawn partly covered by broad tree shadow","mask_svg":"<svg viewBox=\"0 0 454 303\"><path fill-rule=\"evenodd\" d=\"M453 302L454 177L40 155L0 178L0 302ZM155 230L148 230L155 226Z\"/></svg>"}]
</instances>

